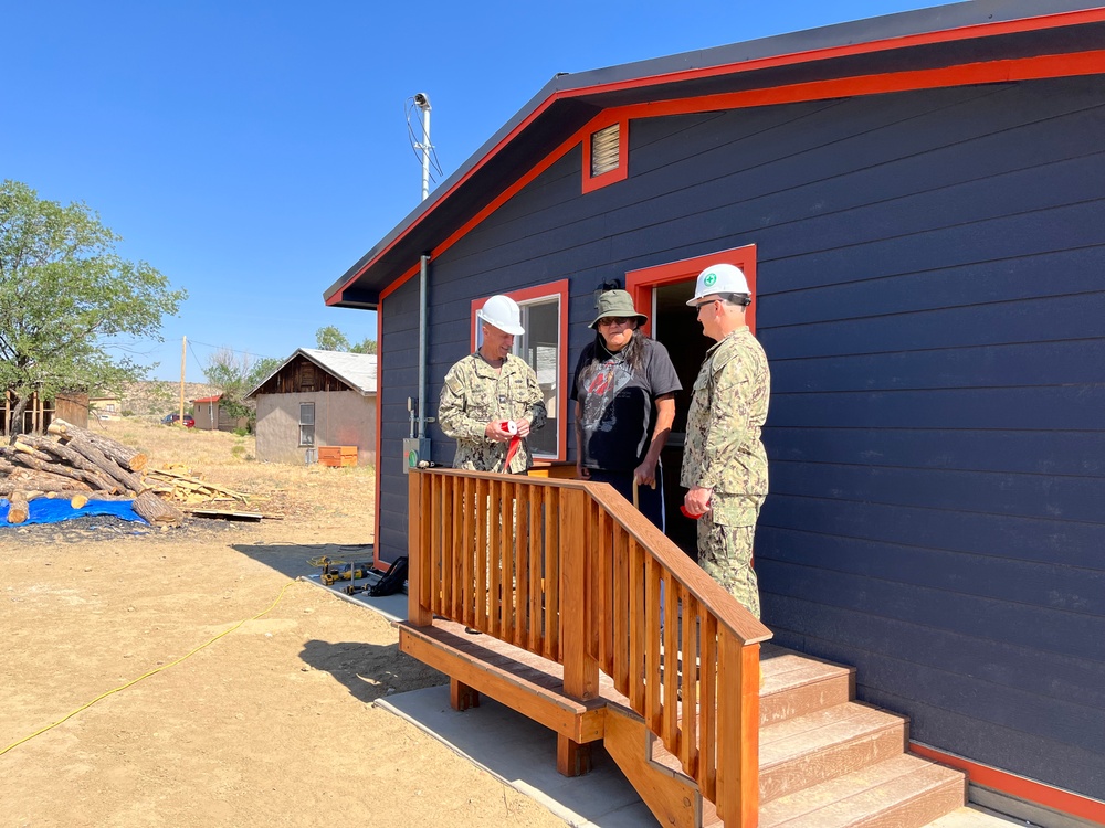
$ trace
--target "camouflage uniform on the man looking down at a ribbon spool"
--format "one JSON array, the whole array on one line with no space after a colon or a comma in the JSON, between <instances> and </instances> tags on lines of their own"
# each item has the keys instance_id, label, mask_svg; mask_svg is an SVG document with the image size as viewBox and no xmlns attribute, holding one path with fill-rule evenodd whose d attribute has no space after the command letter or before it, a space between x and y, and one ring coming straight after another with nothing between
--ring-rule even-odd
<instances>
[{"instance_id":1,"label":"camouflage uniform on the man looking down at a ribbon spool","mask_svg":"<svg viewBox=\"0 0 1105 828\"><path fill-rule=\"evenodd\" d=\"M529 445L522 446L504 469L507 443L487 439L487 423L502 420L528 420L536 431L545 425L545 400L537 385L537 374L524 360L507 354L501 371L496 371L480 352L470 353L449 369L441 389L438 423L456 440L454 468L474 471L509 471L518 474L532 465Z\"/></svg>"}]
</instances>

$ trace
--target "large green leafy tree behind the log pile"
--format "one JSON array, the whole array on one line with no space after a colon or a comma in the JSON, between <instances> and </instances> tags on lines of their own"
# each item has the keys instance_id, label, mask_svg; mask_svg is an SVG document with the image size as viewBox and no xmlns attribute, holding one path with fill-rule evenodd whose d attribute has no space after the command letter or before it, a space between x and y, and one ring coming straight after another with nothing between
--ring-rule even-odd
<instances>
[{"instance_id":1,"label":"large green leafy tree behind the log pile","mask_svg":"<svg viewBox=\"0 0 1105 828\"><path fill-rule=\"evenodd\" d=\"M149 365L113 357L116 337L161 340L164 316L187 298L145 262L115 252L120 240L84 203L0 184L0 389L17 399L10 434L38 392L122 390Z\"/></svg>"}]
</instances>

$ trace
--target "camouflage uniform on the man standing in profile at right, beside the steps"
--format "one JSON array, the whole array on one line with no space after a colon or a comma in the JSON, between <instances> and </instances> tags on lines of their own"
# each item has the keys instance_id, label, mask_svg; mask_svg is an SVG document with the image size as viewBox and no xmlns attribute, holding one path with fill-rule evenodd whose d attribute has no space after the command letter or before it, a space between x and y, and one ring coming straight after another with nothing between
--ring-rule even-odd
<instances>
[{"instance_id":1,"label":"camouflage uniform on the man standing in profile at right, beside the steps","mask_svg":"<svg viewBox=\"0 0 1105 828\"><path fill-rule=\"evenodd\" d=\"M711 510L698 519L703 570L757 618L753 533L767 496L767 420L770 374L764 348L748 328L706 352L687 412L683 474L686 487L712 489Z\"/></svg>"}]
</instances>

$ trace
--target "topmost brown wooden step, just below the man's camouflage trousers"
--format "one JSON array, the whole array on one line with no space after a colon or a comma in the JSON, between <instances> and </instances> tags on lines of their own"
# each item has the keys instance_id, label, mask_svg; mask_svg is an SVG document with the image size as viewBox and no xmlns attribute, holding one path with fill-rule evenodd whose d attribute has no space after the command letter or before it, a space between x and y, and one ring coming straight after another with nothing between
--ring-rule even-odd
<instances>
[{"instance_id":1,"label":"topmost brown wooden step, just below the man's camouflage trousers","mask_svg":"<svg viewBox=\"0 0 1105 828\"><path fill-rule=\"evenodd\" d=\"M760 726L855 698L855 668L774 645L760 651Z\"/></svg>"}]
</instances>

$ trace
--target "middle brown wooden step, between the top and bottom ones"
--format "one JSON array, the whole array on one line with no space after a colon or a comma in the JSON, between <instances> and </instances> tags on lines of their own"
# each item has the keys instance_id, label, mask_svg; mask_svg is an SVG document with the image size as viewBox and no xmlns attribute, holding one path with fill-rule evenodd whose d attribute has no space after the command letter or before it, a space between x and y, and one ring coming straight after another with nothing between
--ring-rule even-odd
<instances>
[{"instance_id":1,"label":"middle brown wooden step, between the top and bottom ones","mask_svg":"<svg viewBox=\"0 0 1105 828\"><path fill-rule=\"evenodd\" d=\"M848 702L760 729L760 803L903 753L908 720Z\"/></svg>"}]
</instances>

